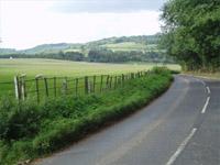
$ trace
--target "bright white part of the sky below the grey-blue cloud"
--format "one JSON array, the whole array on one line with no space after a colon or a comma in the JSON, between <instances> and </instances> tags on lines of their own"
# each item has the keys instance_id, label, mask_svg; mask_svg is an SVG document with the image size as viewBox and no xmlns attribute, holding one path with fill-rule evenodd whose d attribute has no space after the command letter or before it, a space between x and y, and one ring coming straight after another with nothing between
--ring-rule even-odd
<instances>
[{"instance_id":1,"label":"bright white part of the sky below the grey-blue cloud","mask_svg":"<svg viewBox=\"0 0 220 165\"><path fill-rule=\"evenodd\" d=\"M48 9L54 1L41 0L7 0L2 4L2 47L28 48L44 43L78 43L160 32L157 11L52 12Z\"/></svg>"}]
</instances>

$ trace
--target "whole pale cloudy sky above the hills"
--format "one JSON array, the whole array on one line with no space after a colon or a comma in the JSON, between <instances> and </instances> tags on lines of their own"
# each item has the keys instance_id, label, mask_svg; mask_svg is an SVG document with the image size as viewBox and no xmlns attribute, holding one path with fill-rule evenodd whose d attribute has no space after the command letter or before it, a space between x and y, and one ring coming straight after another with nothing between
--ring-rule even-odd
<instances>
[{"instance_id":1,"label":"whole pale cloudy sky above the hills","mask_svg":"<svg viewBox=\"0 0 220 165\"><path fill-rule=\"evenodd\" d=\"M86 43L161 31L165 0L0 0L0 47Z\"/></svg>"}]
</instances>

